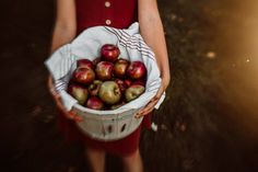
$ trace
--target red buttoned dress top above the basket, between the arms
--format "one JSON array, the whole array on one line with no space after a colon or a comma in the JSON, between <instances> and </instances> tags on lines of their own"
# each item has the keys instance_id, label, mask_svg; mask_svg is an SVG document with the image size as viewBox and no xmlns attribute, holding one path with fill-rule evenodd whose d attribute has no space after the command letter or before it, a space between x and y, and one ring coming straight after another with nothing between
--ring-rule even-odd
<instances>
[{"instance_id":1,"label":"red buttoned dress top above the basket, between the arms","mask_svg":"<svg viewBox=\"0 0 258 172\"><path fill-rule=\"evenodd\" d=\"M137 0L75 0L78 33L107 25L127 28L138 20Z\"/></svg>"}]
</instances>

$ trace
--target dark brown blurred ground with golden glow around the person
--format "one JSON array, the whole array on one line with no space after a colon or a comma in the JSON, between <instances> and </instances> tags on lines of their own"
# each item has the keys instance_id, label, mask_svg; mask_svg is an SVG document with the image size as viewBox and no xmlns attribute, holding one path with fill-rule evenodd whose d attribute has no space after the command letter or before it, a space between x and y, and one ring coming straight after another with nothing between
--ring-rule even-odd
<instances>
[{"instance_id":1,"label":"dark brown blurred ground with golden glow around the person","mask_svg":"<svg viewBox=\"0 0 258 172\"><path fill-rule=\"evenodd\" d=\"M0 169L85 172L83 147L66 145L44 60L55 1L0 2ZM172 83L144 130L148 172L258 171L258 1L159 0ZM107 157L107 171L121 171Z\"/></svg>"}]
</instances>

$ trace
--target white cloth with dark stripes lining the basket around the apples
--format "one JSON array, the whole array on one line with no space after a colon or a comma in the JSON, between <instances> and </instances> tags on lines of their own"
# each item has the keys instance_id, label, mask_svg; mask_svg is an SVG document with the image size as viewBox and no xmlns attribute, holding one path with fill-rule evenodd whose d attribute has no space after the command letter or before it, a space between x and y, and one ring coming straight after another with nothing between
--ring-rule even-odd
<instances>
[{"instance_id":1,"label":"white cloth with dark stripes lining the basket around the apples","mask_svg":"<svg viewBox=\"0 0 258 172\"><path fill-rule=\"evenodd\" d=\"M77 103L73 98L66 93L69 79L75 69L75 61L82 58L94 60L96 57L99 57L99 47L104 44L117 45L120 49L119 58L126 58L130 61L141 60L148 69L145 93L125 105L125 108L144 106L159 90L161 78L155 55L141 37L139 23L133 23L128 30L95 26L85 30L72 43L57 49L45 61L46 67L54 77L55 88L61 94L63 104L68 110L71 110L74 103ZM165 93L157 103L156 108L164 98Z\"/></svg>"}]
</instances>

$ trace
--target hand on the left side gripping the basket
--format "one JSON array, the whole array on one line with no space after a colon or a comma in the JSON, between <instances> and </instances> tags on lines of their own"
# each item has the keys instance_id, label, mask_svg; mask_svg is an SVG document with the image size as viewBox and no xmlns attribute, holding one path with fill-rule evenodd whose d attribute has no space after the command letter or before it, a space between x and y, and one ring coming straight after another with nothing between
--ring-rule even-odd
<instances>
[{"instance_id":1,"label":"hand on the left side gripping the basket","mask_svg":"<svg viewBox=\"0 0 258 172\"><path fill-rule=\"evenodd\" d=\"M52 77L49 76L48 77L48 90L50 92L50 94L52 95L54 98L54 101L58 107L58 110L61 111L61 113L69 119L73 119L75 122L81 122L82 118L80 116L77 115L75 112L73 112L72 110L71 111L67 111L66 107L62 105L62 102L61 102L61 98L60 95L56 92L56 89L55 89L55 85L54 85L54 82L52 82Z\"/></svg>"}]
</instances>

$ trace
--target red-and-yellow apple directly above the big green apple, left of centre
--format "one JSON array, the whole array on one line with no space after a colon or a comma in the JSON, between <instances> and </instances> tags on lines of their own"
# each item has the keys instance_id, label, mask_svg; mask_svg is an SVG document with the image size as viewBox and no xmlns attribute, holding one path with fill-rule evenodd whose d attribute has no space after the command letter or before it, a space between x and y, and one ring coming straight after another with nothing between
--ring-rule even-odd
<instances>
[{"instance_id":1,"label":"red-and-yellow apple directly above the big green apple, left of centre","mask_svg":"<svg viewBox=\"0 0 258 172\"><path fill-rule=\"evenodd\" d=\"M113 68L114 65L109 61L101 61L96 65L96 76L99 80L102 81L106 81L106 80L110 80L113 77Z\"/></svg>"}]
</instances>

